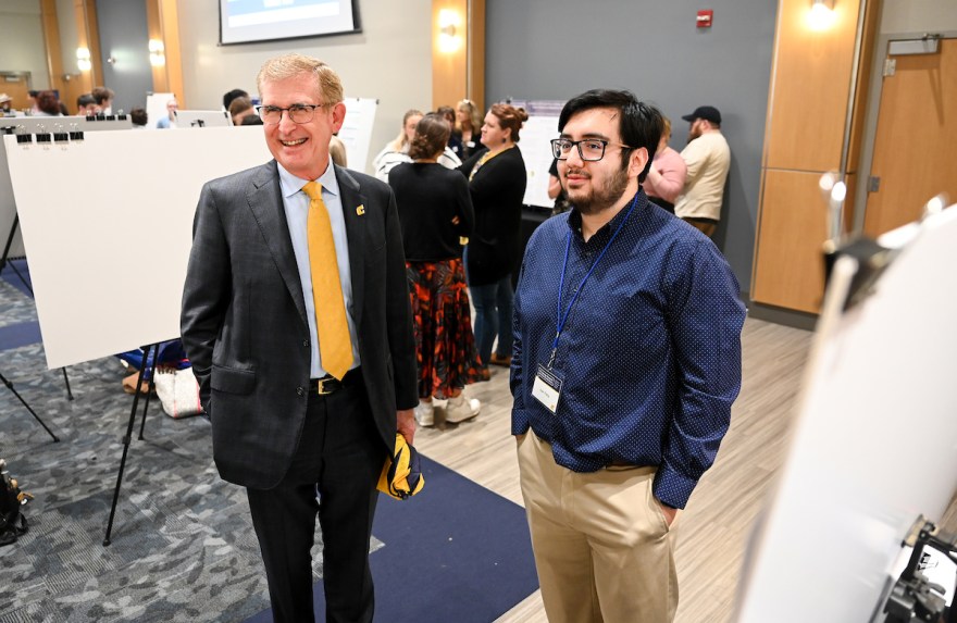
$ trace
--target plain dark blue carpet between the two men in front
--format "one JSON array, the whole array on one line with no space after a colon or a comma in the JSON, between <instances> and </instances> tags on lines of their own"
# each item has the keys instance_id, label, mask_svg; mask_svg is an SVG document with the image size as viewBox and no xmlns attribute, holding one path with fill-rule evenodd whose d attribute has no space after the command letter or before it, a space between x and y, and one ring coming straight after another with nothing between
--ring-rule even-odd
<instances>
[{"instance_id":1,"label":"plain dark blue carpet between the two men in front","mask_svg":"<svg viewBox=\"0 0 957 623\"><path fill-rule=\"evenodd\" d=\"M425 489L398 501L382 496L370 557L375 620L489 623L538 588L525 511L422 457ZM322 583L313 587L325 619ZM269 610L247 623L272 621Z\"/></svg>"}]
</instances>

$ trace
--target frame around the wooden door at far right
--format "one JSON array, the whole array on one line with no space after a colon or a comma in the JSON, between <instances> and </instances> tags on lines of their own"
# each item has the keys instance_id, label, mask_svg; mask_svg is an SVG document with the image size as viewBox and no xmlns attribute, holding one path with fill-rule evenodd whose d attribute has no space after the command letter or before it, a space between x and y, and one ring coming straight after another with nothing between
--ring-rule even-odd
<instances>
[{"instance_id":1,"label":"frame around the wooden door at far right","mask_svg":"<svg viewBox=\"0 0 957 623\"><path fill-rule=\"evenodd\" d=\"M860 151L860 165L857 170L857 183L854 194L854 223L853 230L856 234L863 232L865 212L868 200L868 178L871 175L871 166L874 162L874 142L878 138L878 119L881 114L881 96L884 88L884 59L891 41L904 39L920 39L928 33L882 33L878 35L874 43L873 64L870 74L870 88L868 90L867 113L863 122L863 144ZM934 33L941 39L957 39L957 30L940 30Z\"/></svg>"}]
</instances>

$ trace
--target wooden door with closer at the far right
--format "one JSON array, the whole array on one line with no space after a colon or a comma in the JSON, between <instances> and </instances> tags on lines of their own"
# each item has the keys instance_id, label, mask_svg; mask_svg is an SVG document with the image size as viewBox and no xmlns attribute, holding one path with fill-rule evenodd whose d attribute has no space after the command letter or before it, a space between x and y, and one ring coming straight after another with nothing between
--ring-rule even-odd
<instances>
[{"instance_id":1,"label":"wooden door with closer at the far right","mask_svg":"<svg viewBox=\"0 0 957 623\"><path fill-rule=\"evenodd\" d=\"M863 230L878 236L920 217L940 192L957 201L957 39L935 54L894 57L884 77ZM872 188L872 186L869 186Z\"/></svg>"}]
</instances>

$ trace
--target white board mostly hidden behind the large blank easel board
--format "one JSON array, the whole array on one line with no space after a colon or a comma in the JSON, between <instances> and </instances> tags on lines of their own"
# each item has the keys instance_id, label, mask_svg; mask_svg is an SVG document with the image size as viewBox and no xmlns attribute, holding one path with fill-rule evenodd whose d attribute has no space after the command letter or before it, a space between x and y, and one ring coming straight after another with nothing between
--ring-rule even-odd
<instances>
[{"instance_id":1,"label":"white board mostly hidden behind the large blank easel board","mask_svg":"<svg viewBox=\"0 0 957 623\"><path fill-rule=\"evenodd\" d=\"M127 116L123 121L87 121L82 116L17 116L0 119L0 129L12 127L16 132L35 135L38 132L100 132L111 129L129 129L133 122ZM7 150L0 147L0 252L7 244L13 219L16 216L16 202L13 199L13 186L10 182L10 167L7 164ZM10 246L9 258L20 258L26 253L20 227L14 233Z\"/></svg>"}]
</instances>

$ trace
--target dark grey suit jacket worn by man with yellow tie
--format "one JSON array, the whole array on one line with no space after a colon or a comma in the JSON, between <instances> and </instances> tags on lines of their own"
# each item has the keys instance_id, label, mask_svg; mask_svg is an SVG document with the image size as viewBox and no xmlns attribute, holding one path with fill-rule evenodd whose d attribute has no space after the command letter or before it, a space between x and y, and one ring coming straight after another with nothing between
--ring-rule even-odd
<instances>
[{"instance_id":1,"label":"dark grey suit jacket worn by man with yellow tie","mask_svg":"<svg viewBox=\"0 0 957 623\"><path fill-rule=\"evenodd\" d=\"M396 202L386 184L338 166L335 172L362 376L391 452L396 410L419 402ZM247 487L274 487L302 431L310 365L306 302L275 161L203 186L181 332L212 422L220 475Z\"/></svg>"}]
</instances>

